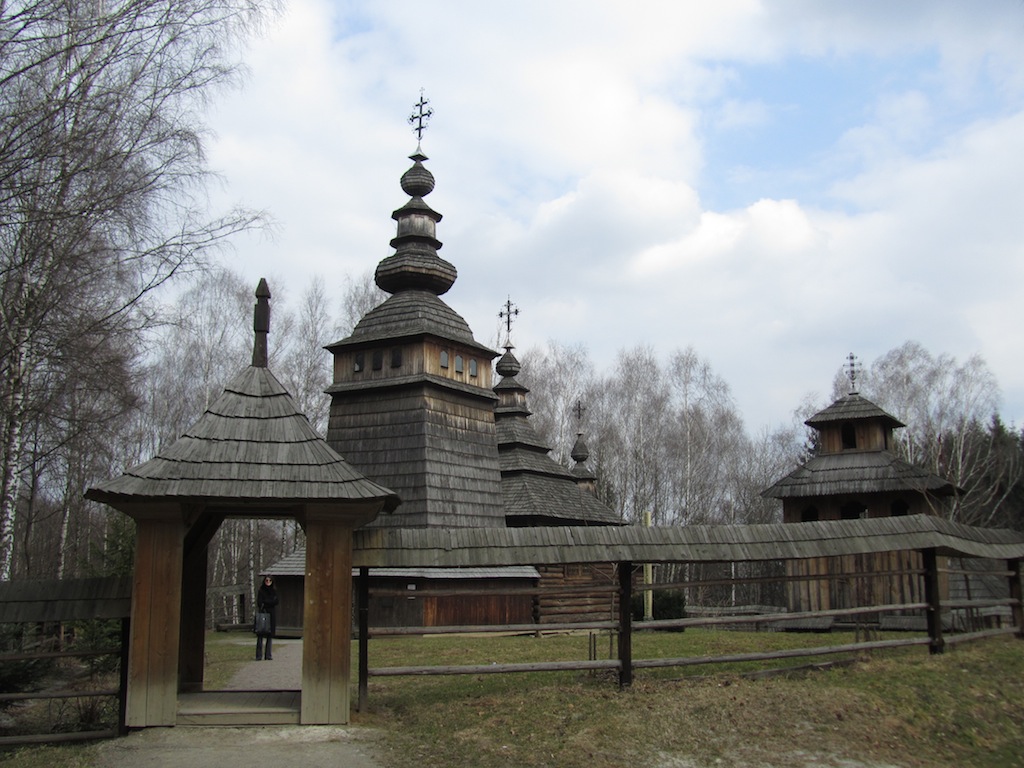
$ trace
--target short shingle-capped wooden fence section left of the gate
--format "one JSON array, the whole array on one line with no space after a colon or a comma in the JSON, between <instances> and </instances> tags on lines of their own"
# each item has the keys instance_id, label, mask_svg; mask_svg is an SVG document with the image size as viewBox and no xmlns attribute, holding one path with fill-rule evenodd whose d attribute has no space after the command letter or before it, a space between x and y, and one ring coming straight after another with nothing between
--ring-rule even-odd
<instances>
[{"instance_id":1,"label":"short shingle-capped wooden fence section left of the gate","mask_svg":"<svg viewBox=\"0 0 1024 768\"><path fill-rule=\"evenodd\" d=\"M131 610L131 581L122 579L76 579L59 582L7 582L0 583L0 625L17 627L33 637L49 636L53 647L33 644L20 649L0 649L0 665L18 663L55 662L69 659L114 656L118 659L118 686L87 688L60 688L26 690L0 693L0 706L17 702L82 701L83 699L113 698L117 707L117 724L114 727L88 727L82 730L53 732L52 724L41 721L45 732L18 733L0 736L0 746L57 741L81 741L109 738L126 732L125 697L128 689L127 656L129 613ZM82 649L75 643L65 642L65 628L71 622L120 620L119 641L106 647Z\"/></svg>"}]
</instances>

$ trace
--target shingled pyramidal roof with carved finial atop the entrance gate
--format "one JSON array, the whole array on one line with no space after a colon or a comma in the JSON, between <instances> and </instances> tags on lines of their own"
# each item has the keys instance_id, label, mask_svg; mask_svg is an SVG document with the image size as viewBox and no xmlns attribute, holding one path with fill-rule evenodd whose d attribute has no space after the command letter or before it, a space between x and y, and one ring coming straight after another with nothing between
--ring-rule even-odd
<instances>
[{"instance_id":1,"label":"shingled pyramidal roof with carved finial atop the entrance gate","mask_svg":"<svg viewBox=\"0 0 1024 768\"><path fill-rule=\"evenodd\" d=\"M90 488L115 507L166 499L251 509L298 502L385 500L394 492L367 479L328 445L267 366L270 291L256 289L252 365L227 384L170 447Z\"/></svg>"}]
</instances>

